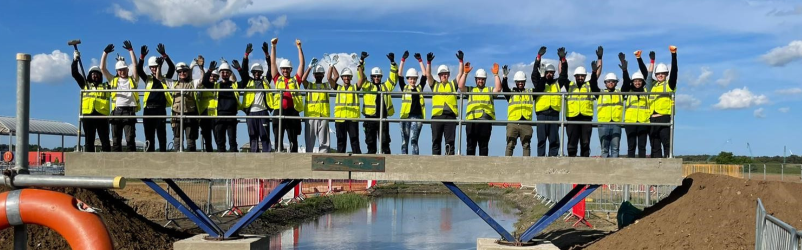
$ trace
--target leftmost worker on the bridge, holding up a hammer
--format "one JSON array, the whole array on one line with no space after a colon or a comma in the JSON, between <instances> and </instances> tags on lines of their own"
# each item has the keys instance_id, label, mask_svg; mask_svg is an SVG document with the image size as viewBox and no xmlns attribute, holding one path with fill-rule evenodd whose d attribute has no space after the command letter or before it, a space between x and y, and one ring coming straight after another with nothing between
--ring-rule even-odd
<instances>
[{"instance_id":1,"label":"leftmost worker on the bridge, holding up a hammer","mask_svg":"<svg viewBox=\"0 0 802 250\"><path fill-rule=\"evenodd\" d=\"M100 72L100 67L90 67L89 75L83 78L83 75L78 71L78 62L81 59L81 53L75 50L72 57L72 78L78 87L82 90L106 90L108 83L103 82L103 73ZM84 116L108 116L109 114L109 99L111 95L109 92L88 92L81 95L81 115ZM95 151L95 132L100 139L100 151L111 151L111 145L108 140L108 119L83 119L84 142L83 151Z\"/></svg>"}]
</instances>

